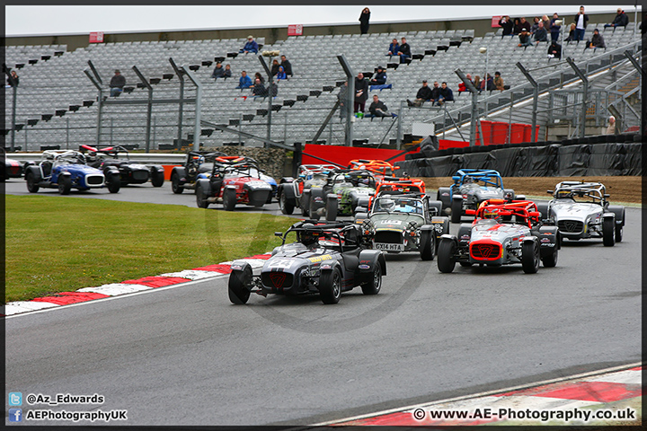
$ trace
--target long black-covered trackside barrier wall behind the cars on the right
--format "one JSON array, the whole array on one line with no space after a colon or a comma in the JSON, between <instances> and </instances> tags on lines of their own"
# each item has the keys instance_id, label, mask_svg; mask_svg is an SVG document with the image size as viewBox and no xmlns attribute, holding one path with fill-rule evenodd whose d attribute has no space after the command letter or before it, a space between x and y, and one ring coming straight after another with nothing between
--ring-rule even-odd
<instances>
[{"instance_id":1,"label":"long black-covered trackside barrier wall behind the cars on the right","mask_svg":"<svg viewBox=\"0 0 647 431\"><path fill-rule=\"evenodd\" d=\"M499 145L497 145L499 146ZM458 169L494 169L504 177L642 175L642 144L500 145L473 147L471 152L435 152L428 158L395 163L420 177L449 177ZM478 151L474 152L474 148ZM496 149L494 149L496 148Z\"/></svg>"}]
</instances>

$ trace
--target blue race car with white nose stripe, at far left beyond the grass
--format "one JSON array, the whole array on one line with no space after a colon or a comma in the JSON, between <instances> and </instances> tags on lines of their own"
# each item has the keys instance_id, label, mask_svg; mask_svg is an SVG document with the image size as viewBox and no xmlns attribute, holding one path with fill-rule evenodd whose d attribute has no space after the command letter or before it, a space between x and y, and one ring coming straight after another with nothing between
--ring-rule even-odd
<instances>
[{"instance_id":1,"label":"blue race car with white nose stripe, at far left beyond the grass","mask_svg":"<svg viewBox=\"0 0 647 431\"><path fill-rule=\"evenodd\" d=\"M117 193L121 187L120 172L116 166L102 172L85 164L85 156L73 150L44 151L37 165L27 166L27 189L36 193L41 187L58 189L68 195L72 188L79 190L107 187Z\"/></svg>"}]
</instances>

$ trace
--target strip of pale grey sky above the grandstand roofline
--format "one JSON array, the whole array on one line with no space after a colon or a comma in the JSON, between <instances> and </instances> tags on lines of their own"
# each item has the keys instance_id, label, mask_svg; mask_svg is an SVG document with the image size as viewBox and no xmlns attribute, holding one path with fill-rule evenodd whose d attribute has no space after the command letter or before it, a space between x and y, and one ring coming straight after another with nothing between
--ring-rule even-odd
<instances>
[{"instance_id":1,"label":"strip of pale grey sky above the grandstand roofline","mask_svg":"<svg viewBox=\"0 0 647 431\"><path fill-rule=\"evenodd\" d=\"M406 22L483 18L492 15L535 16L554 12L572 15L578 5L397 5L366 4L371 22ZM231 29L287 27L288 24L355 23L364 5L7 5L5 34L54 35L90 31L172 31L185 29ZM587 12L615 12L617 4L588 5ZM634 21L634 5L620 5ZM640 8L640 6L639 6ZM640 18L639 18L640 19Z\"/></svg>"}]
</instances>

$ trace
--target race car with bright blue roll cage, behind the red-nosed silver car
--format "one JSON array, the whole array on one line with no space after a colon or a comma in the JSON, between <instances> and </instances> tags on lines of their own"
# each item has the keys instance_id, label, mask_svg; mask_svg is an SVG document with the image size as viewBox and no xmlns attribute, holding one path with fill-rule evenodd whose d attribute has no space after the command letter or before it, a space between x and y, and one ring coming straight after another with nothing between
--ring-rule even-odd
<instances>
[{"instance_id":1,"label":"race car with bright blue roll cage, behind the red-nosed silver car","mask_svg":"<svg viewBox=\"0 0 647 431\"><path fill-rule=\"evenodd\" d=\"M440 187L437 200L442 202L442 210L451 209L451 222L460 223L465 209L478 209L487 199L518 199L513 189L504 189L499 172L491 169L460 169L452 177L451 187Z\"/></svg>"}]
</instances>

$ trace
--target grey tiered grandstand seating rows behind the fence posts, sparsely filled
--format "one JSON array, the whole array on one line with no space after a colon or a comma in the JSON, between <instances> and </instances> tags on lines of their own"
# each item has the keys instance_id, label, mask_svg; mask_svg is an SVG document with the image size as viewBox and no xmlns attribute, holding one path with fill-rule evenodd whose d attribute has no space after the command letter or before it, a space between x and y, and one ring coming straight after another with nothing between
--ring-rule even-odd
<instances>
[{"instance_id":1,"label":"grey tiered grandstand seating rows behind the fence posts, sparsely filled","mask_svg":"<svg viewBox=\"0 0 647 431\"><path fill-rule=\"evenodd\" d=\"M584 40L590 38L595 28L603 23L589 23ZM584 49L584 43L564 46L566 57L589 76L587 130L605 127L607 106L615 104L626 115L625 126L639 124L635 107L640 97L638 72L625 57L624 52L640 53L639 33L634 23L624 28L605 29L602 32L606 49ZM412 46L412 61L398 64L398 58L386 57L390 40L406 37ZM279 92L271 101L271 139L291 145L310 142L337 101L338 87L345 76L337 60L346 57L353 71L372 75L377 66L386 66L387 83L391 88L373 90L385 101L397 119L355 119L353 137L370 144L399 145L404 135L412 135L415 125L433 125L439 137L454 140L470 139L470 120L473 105L470 93L458 94L460 79L456 69L465 73L483 75L487 71L501 71L506 87L504 92L483 92L478 95L477 113L481 119L508 123L529 124L532 120L532 86L521 70L520 62L539 83L540 102L536 111L538 136L572 137L579 133L577 115L581 103L581 80L572 66L564 61L548 58L547 44L540 42L528 48L518 48L516 37L501 37L499 31L476 35L474 30L400 31L371 34L328 34L315 36L290 36L265 44L261 50L278 50L293 65L294 76L279 82ZM5 50L5 63L18 69L21 84L17 89L15 145L22 150L39 150L50 145L75 148L78 145L97 143L96 128L99 118L99 92L84 74L92 62L102 77L103 94L107 95L108 82L115 68L127 79L127 92L117 99L120 104L102 104L101 144L138 145L146 142L146 104L127 104L125 101L146 101L149 92L139 79L133 66L141 71L152 85L153 100L173 100L180 97L180 80L169 62L191 69L202 83L200 117L211 123L244 131L254 136L266 137L269 103L265 98L253 99L249 90L235 86L242 70L249 75L262 71L259 58L237 54L244 39L221 40L163 40L126 41L90 44L84 48L67 51L65 45L9 46ZM483 55L479 48L487 48ZM210 78L215 61L224 59L232 67L233 77ZM266 58L266 60L269 58ZM263 73L263 75L265 75ZM421 81L446 81L453 89L456 101L446 107L422 109L406 107ZM195 85L184 79L184 97L197 96ZM629 96L634 96L632 99ZM5 88L5 135L12 132L13 89ZM112 99L112 98L109 98ZM510 109L510 106L513 106ZM192 140L196 118L195 103L186 102L180 117L175 102L156 103L152 106L151 148L168 148L177 139ZM563 106L562 110L558 110ZM634 106L634 108L632 108ZM447 108L447 109L445 109ZM634 111L632 113L632 111ZM368 113L368 104L367 104ZM561 132L551 132L559 126L569 126ZM458 126L459 128L456 128ZM560 133L562 135L560 135ZM237 143L262 145L235 134L202 128L200 142L205 146ZM540 139L541 140L541 139ZM344 143L344 124L339 113L324 128L319 141L325 144ZM8 141L7 141L8 142Z\"/></svg>"}]
</instances>

